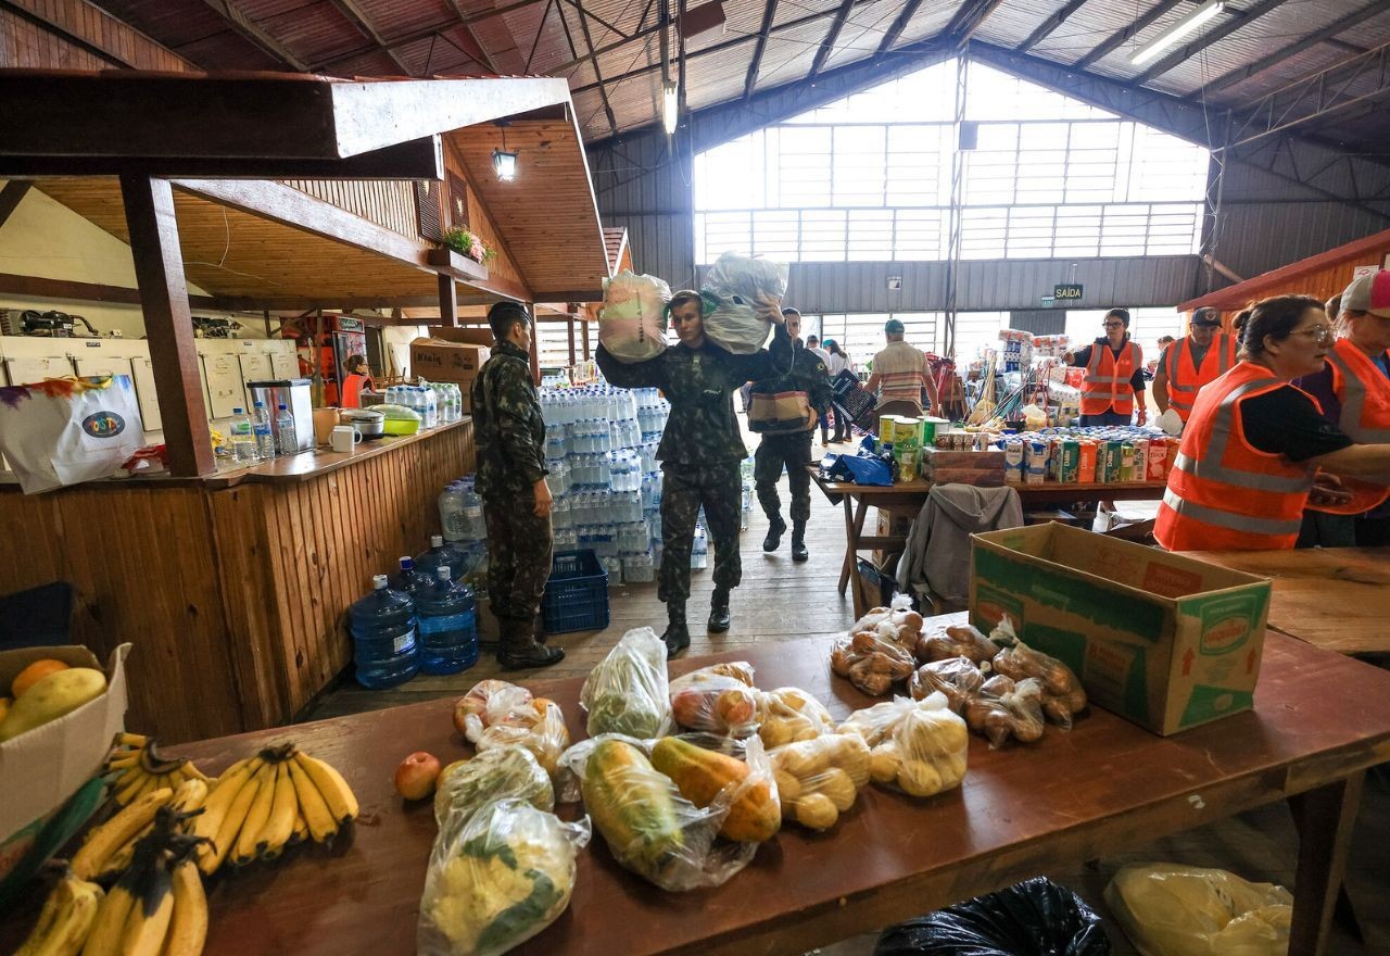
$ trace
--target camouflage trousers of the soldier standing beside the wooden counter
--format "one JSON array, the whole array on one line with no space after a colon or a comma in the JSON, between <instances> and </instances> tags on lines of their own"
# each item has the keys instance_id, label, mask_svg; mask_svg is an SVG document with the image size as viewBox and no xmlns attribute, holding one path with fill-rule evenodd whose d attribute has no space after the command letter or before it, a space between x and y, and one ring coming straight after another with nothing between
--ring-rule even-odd
<instances>
[{"instance_id":1,"label":"camouflage trousers of the soldier standing beside the wooden counter","mask_svg":"<svg viewBox=\"0 0 1390 956\"><path fill-rule=\"evenodd\" d=\"M550 579L555 535L550 517L535 516L535 499L521 495L484 499L488 522L488 600L498 618L535 618Z\"/></svg>"}]
</instances>

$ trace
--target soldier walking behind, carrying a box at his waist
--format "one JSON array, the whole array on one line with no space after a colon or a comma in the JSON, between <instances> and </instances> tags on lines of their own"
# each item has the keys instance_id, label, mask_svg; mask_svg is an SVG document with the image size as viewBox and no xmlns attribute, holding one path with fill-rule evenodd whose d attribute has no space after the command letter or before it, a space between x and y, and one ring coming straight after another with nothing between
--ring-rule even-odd
<instances>
[{"instance_id":1,"label":"soldier walking behind, carrying a box at his waist","mask_svg":"<svg viewBox=\"0 0 1390 956\"><path fill-rule=\"evenodd\" d=\"M810 520L810 439L816 422L830 410L830 372L820 357L802 346L801 313L784 308L787 335L795 343L791 370L785 375L753 382L753 403L748 413L749 431L763 436L753 456L753 481L758 503L767 516L767 536L763 550L774 552L787 531L777 499L777 479L787 468L791 488L791 560L805 561L806 522Z\"/></svg>"}]
</instances>

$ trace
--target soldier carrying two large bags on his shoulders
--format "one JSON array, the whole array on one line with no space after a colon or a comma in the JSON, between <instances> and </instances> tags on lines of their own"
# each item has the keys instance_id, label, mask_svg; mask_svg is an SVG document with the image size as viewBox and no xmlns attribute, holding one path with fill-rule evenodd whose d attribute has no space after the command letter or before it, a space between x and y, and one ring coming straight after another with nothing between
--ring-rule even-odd
<instances>
[{"instance_id":1,"label":"soldier carrying two large bags on his shoulders","mask_svg":"<svg viewBox=\"0 0 1390 956\"><path fill-rule=\"evenodd\" d=\"M705 338L703 300L698 292L677 292L667 306L680 343L656 358L623 364L600 345L595 358L609 384L659 388L671 403L666 434L656 449L662 485L662 570L657 596L666 602L669 625L662 639L667 656L689 646L685 602L691 593L691 546L701 504L714 546L714 596L709 629L727 631L728 593L738 586L738 525L742 510L739 463L746 457L734 417L734 392L751 379L781 374L791 365L791 339L777 314L771 350L749 356L727 352ZM769 317L773 318L773 317Z\"/></svg>"}]
</instances>

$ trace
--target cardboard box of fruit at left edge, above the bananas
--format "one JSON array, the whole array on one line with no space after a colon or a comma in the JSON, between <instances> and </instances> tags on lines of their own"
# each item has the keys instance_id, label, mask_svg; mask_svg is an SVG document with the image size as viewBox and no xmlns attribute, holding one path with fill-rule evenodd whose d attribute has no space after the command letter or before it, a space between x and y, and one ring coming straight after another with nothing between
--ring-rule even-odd
<instances>
[{"instance_id":1,"label":"cardboard box of fruit at left edge, above the bananas","mask_svg":"<svg viewBox=\"0 0 1390 956\"><path fill-rule=\"evenodd\" d=\"M13 873L18 878L18 867L36 868L43 863L32 859L29 848L46 842L43 831L49 817L101 771L111 739L125 728L125 657L129 652L131 645L121 645L104 668L86 648L0 652L0 686L4 688L19 671L44 657L72 667L104 670L107 679L106 693L95 700L0 743L0 896L11 889L7 875Z\"/></svg>"}]
</instances>

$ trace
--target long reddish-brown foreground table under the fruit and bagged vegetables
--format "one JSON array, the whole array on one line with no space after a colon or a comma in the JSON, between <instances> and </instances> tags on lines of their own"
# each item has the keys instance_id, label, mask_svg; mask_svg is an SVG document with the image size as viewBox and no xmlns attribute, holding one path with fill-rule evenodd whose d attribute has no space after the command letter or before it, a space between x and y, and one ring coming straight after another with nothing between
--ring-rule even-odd
<instances>
[{"instance_id":1,"label":"long reddish-brown foreground table under the fruit and bagged vegetables","mask_svg":"<svg viewBox=\"0 0 1390 956\"><path fill-rule=\"evenodd\" d=\"M942 618L937 618L940 623ZM959 620L959 618L956 618ZM828 639L751 654L759 685L796 685L838 717L870 699L833 677ZM673 664L673 673L713 659ZM582 736L578 679L530 685ZM211 884L208 956L404 956L435 836L430 802L404 806L409 752L466 755L452 700L177 748L210 773L296 741L339 767L363 816L332 850L297 848ZM1269 634L1255 710L1161 738L1091 709L1070 734L991 752L972 736L959 789L927 800L867 786L827 834L788 824L714 889L669 893L617 867L602 838L580 855L569 910L520 953L803 953L1220 817L1291 798L1302 824L1291 953L1326 952L1365 768L1390 759L1390 674ZM566 814L578 813L569 806ZM38 912L0 924L0 952Z\"/></svg>"}]
</instances>

